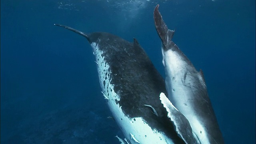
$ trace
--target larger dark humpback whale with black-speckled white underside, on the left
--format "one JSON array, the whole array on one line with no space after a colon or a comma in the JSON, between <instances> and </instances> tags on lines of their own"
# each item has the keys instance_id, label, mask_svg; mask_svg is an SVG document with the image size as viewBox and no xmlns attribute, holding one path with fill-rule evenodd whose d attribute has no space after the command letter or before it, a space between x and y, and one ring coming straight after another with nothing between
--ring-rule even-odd
<instances>
[{"instance_id":1,"label":"larger dark humpback whale with black-speckled white underside, on the left","mask_svg":"<svg viewBox=\"0 0 256 144\"><path fill-rule=\"evenodd\" d=\"M128 42L106 32L85 34L68 26L55 24L84 36L96 57L102 93L113 118L130 144L184 144L192 135L188 120L178 110L170 121L159 94L165 83L137 40ZM157 112L156 116L150 105ZM182 129L188 130L182 131ZM177 132L178 133L177 133Z\"/></svg>"}]
</instances>

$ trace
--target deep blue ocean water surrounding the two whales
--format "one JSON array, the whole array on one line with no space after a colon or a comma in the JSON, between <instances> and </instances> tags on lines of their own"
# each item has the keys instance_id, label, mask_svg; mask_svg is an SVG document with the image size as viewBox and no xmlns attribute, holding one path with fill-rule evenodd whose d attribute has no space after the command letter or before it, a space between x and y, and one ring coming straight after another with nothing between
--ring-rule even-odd
<instances>
[{"instance_id":1,"label":"deep blue ocean water surrounding the two whales","mask_svg":"<svg viewBox=\"0 0 256 144\"><path fill-rule=\"evenodd\" d=\"M255 0L1 0L1 144L118 144L87 40L136 38L164 76L153 10L204 71L226 144L255 144Z\"/></svg>"}]
</instances>

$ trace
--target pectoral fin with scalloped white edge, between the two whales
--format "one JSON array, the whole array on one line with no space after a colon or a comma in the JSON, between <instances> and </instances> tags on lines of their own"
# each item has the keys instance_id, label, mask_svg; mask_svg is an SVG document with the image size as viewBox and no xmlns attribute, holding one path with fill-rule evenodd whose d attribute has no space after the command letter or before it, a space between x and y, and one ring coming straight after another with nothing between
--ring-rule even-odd
<instances>
[{"instance_id":1,"label":"pectoral fin with scalloped white edge, between the two whales","mask_svg":"<svg viewBox=\"0 0 256 144\"><path fill-rule=\"evenodd\" d=\"M164 93L160 94L161 103L168 112L168 118L176 128L176 132L186 144L195 144L196 140L192 133L192 128L188 119L170 102Z\"/></svg>"}]
</instances>

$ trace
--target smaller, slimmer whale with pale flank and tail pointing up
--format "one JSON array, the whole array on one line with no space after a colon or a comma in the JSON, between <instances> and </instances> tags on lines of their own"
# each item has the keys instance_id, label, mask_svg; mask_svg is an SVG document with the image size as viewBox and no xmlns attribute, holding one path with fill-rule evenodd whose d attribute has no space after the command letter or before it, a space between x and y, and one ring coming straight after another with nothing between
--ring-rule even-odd
<instances>
[{"instance_id":1,"label":"smaller, slimmer whale with pale flank and tail pointing up","mask_svg":"<svg viewBox=\"0 0 256 144\"><path fill-rule=\"evenodd\" d=\"M203 72L196 71L190 60L172 42L174 30L164 23L159 5L154 10L154 22L162 40L162 56L166 73L166 90L170 101L189 120L193 133L201 144L223 144Z\"/></svg>"}]
</instances>

